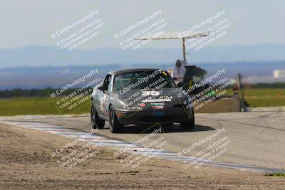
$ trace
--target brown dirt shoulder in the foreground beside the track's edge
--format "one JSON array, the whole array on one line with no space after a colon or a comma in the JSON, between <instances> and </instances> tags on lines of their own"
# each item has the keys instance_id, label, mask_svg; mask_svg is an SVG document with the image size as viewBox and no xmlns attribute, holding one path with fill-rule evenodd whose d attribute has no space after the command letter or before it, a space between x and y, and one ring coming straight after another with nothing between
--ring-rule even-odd
<instances>
[{"instance_id":1,"label":"brown dirt shoulder in the foreground beside the track's edge","mask_svg":"<svg viewBox=\"0 0 285 190\"><path fill-rule=\"evenodd\" d=\"M284 177L151 159L124 168L109 149L58 167L51 152L71 139L0 124L0 189L283 189ZM75 145L78 146L78 145ZM76 149L77 147L73 147Z\"/></svg>"}]
</instances>

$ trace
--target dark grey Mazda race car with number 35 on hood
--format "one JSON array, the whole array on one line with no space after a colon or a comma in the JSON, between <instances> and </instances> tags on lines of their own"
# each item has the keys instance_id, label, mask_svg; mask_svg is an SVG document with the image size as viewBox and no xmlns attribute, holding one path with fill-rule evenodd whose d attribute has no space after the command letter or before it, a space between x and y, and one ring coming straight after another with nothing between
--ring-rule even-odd
<instances>
[{"instance_id":1,"label":"dark grey Mazda race car with number 35 on hood","mask_svg":"<svg viewBox=\"0 0 285 190\"><path fill-rule=\"evenodd\" d=\"M91 125L102 129L109 122L110 132L123 132L125 125L172 125L193 130L195 115L190 97L166 70L134 68L114 70L93 89ZM188 105L185 105L188 102Z\"/></svg>"}]
</instances>

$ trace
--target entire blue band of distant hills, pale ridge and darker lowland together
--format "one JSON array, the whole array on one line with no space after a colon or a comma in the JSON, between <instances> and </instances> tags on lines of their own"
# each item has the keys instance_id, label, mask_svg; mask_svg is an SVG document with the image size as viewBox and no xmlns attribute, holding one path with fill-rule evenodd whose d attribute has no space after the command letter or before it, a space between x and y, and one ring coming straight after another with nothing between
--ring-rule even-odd
<instances>
[{"instance_id":1,"label":"entire blue band of distant hills, pale ridge and darker lowland together","mask_svg":"<svg viewBox=\"0 0 285 190\"><path fill-rule=\"evenodd\" d=\"M181 57L181 49L60 51L46 46L0 49L0 90L53 87L90 65L98 68L100 75L117 68L167 69ZM187 60L190 65L206 70L224 63L231 78L242 73L248 83L270 83L276 81L273 70L285 69L285 45L207 47L190 51Z\"/></svg>"}]
</instances>

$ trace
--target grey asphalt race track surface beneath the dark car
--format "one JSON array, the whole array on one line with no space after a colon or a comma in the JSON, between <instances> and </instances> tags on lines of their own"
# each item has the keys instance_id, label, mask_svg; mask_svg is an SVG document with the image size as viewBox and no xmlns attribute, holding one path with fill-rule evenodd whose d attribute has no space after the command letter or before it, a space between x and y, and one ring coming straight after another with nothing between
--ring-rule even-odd
<instances>
[{"instance_id":1,"label":"grey asphalt race track surface beneath the dark car","mask_svg":"<svg viewBox=\"0 0 285 190\"><path fill-rule=\"evenodd\" d=\"M168 154L170 159L185 160L185 157L191 155L186 154L179 157L177 152L183 152L183 149L187 149L192 144L201 142L202 139L224 129L224 132L219 136L212 137L212 140L195 147L192 154L227 136L230 142L226 144L226 151L207 164L255 171L283 171L282 169L285 168L285 112L196 114L195 119L194 131L183 132L180 130L180 126L175 124L163 127L162 133L155 134L154 139L165 137L167 143L163 147L163 152ZM89 115L75 117L68 115L17 116L0 117L0 120L2 120L0 122L10 122L10 124L14 122L14 125L26 123L26 126L30 128L47 125L47 127L64 126L83 132L91 130ZM32 127L31 124L33 124ZM123 134L112 134L108 129L108 122L106 122L105 128L99 130L98 134L108 141L118 140L120 146L125 146L124 142L127 142L126 144L136 142L156 128L157 126L151 128L130 126L125 127ZM106 146L112 147L113 145Z\"/></svg>"}]
</instances>

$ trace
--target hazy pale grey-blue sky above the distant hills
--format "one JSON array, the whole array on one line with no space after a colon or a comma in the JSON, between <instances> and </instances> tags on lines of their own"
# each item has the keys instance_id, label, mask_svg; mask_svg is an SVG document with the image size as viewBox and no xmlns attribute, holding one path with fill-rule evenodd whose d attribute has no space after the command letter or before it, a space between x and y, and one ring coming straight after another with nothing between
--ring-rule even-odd
<instances>
[{"instance_id":1,"label":"hazy pale grey-blue sky above the distant hills","mask_svg":"<svg viewBox=\"0 0 285 190\"><path fill-rule=\"evenodd\" d=\"M51 34L90 11L98 10L104 26L100 35L80 49L120 48L113 37L132 23L161 10L167 26L162 31L185 31L190 26L225 11L231 26L227 35L210 46L285 43L285 1L38 1L2 0L0 48L56 46ZM145 25L147 26L147 25ZM143 28L143 27L142 27ZM181 41L150 42L145 48L180 48Z\"/></svg>"}]
</instances>

